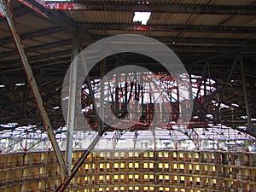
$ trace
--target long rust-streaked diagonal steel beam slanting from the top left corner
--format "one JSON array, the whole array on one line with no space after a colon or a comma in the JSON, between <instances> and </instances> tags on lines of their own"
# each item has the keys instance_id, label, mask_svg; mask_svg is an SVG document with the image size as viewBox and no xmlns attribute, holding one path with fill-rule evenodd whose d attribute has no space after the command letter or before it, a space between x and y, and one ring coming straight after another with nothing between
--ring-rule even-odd
<instances>
[{"instance_id":1,"label":"long rust-streaked diagonal steel beam slanting from the top left corner","mask_svg":"<svg viewBox=\"0 0 256 192\"><path fill-rule=\"evenodd\" d=\"M16 45L18 51L19 51L20 59L22 61L22 66L23 66L24 71L26 73L27 81L30 84L30 87L32 89L35 101L36 101L38 109L39 109L39 112L40 112L41 117L44 121L44 126L45 126L46 131L48 132L49 140L52 144L52 147L55 150L56 158L57 158L57 160L60 164L61 177L64 178L65 175L67 174L67 168L66 168L64 160L61 156L61 150L59 148L59 145L56 142L55 135L54 135L54 132L53 132L53 128L52 128L52 125L50 124L50 121L49 121L49 116L46 113L46 110L44 108L44 103L43 103L42 97L41 97L41 95L39 93L39 90L38 90L38 84L37 84L36 79L34 78L34 75L32 73L32 68L30 67L29 62L27 60L26 53L25 53L24 47L21 43L19 33L17 32L17 29L15 27L15 20L13 18L11 10L9 9L9 4L5 0L1 0L0 4L3 7L3 12L4 12L4 15L6 15L6 20L8 22L9 29L12 33L12 36L13 36L14 40L15 40L15 45Z\"/></svg>"}]
</instances>

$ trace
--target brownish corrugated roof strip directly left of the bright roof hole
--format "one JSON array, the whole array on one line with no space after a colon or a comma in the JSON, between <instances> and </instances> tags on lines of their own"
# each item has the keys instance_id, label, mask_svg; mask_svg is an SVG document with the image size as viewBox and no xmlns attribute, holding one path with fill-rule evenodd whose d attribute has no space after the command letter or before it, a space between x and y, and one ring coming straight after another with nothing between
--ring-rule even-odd
<instances>
[{"instance_id":1,"label":"brownish corrugated roof strip directly left of the bright roof hole","mask_svg":"<svg viewBox=\"0 0 256 192\"><path fill-rule=\"evenodd\" d=\"M66 15L79 22L132 23L133 13L107 11L65 11Z\"/></svg>"}]
</instances>

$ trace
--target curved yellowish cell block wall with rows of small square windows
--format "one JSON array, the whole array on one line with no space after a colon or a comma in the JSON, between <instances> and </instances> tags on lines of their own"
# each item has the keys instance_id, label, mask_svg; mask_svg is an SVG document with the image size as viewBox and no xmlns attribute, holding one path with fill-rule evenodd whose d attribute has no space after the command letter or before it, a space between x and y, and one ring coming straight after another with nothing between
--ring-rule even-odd
<instances>
[{"instance_id":1,"label":"curved yellowish cell block wall with rows of small square windows","mask_svg":"<svg viewBox=\"0 0 256 192\"><path fill-rule=\"evenodd\" d=\"M82 154L73 152L73 163ZM1 154L0 162L0 192L55 191L61 183L53 152ZM67 191L254 192L256 154L96 151L84 161Z\"/></svg>"}]
</instances>

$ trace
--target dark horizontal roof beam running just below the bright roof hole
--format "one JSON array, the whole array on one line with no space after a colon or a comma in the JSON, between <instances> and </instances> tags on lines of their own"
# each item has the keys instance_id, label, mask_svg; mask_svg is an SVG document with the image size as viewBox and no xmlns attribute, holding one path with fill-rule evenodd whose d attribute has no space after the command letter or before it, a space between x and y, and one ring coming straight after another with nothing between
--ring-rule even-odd
<instances>
[{"instance_id":1,"label":"dark horizontal roof beam running just below the bright roof hole","mask_svg":"<svg viewBox=\"0 0 256 192\"><path fill-rule=\"evenodd\" d=\"M90 22L78 22L79 29L85 30L126 30L137 31L137 26L133 23L90 23ZM256 27L247 26L186 26L186 25L157 25L148 24L148 30L150 32L214 32L214 33L234 33L234 34L255 34Z\"/></svg>"}]
</instances>

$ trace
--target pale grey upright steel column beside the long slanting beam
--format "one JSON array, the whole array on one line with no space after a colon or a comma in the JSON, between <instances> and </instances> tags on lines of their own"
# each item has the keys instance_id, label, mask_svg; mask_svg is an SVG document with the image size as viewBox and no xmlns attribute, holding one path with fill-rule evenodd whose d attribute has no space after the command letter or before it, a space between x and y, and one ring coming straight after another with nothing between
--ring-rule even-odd
<instances>
[{"instance_id":1,"label":"pale grey upright steel column beside the long slanting beam","mask_svg":"<svg viewBox=\"0 0 256 192\"><path fill-rule=\"evenodd\" d=\"M67 173L70 175L72 166L72 151L73 151L73 129L75 126L75 111L76 111L76 88L77 88L77 72L78 72L78 58L79 55L79 34L76 32L73 36L72 58L73 65L70 70L70 86L69 86L69 100L67 111L67 145L66 145L66 164Z\"/></svg>"}]
</instances>

